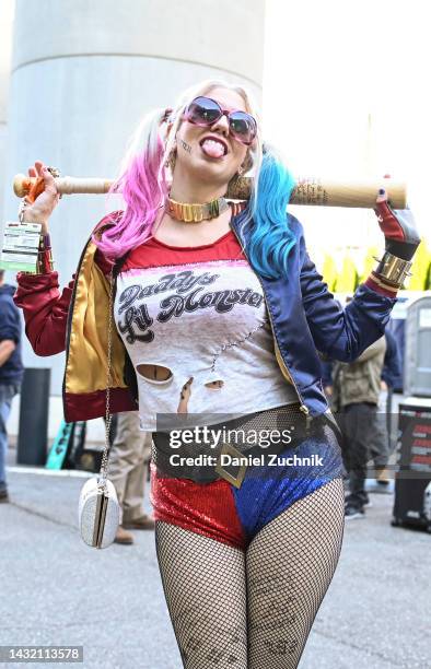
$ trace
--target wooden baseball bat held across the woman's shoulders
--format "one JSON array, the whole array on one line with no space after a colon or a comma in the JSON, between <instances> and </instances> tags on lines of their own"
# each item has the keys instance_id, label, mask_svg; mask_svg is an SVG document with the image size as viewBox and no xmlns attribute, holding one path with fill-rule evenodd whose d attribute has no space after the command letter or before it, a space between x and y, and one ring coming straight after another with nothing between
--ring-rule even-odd
<instances>
[{"instance_id":1,"label":"wooden baseball bat held across the woman's shoulders","mask_svg":"<svg viewBox=\"0 0 431 669\"><path fill-rule=\"evenodd\" d=\"M312 204L324 207L359 207L373 209L378 189L384 187L394 209L406 209L407 188L403 181L394 179L368 179L340 181L335 179L304 177L296 179L290 198L291 204ZM58 177L56 187L61 195L108 192L113 180L100 178ZM240 177L231 181L226 198L247 200L251 195L252 179ZM19 198L28 196L34 201L44 190L42 177L27 177L18 174L13 179L13 190Z\"/></svg>"}]
</instances>

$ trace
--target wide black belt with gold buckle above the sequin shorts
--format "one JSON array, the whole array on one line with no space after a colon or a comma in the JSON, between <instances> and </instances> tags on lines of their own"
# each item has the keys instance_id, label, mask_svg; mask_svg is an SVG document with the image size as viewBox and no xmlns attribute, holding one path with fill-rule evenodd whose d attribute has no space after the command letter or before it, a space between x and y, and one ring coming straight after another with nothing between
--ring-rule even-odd
<instances>
[{"instance_id":1,"label":"wide black belt with gold buckle above the sequin shorts","mask_svg":"<svg viewBox=\"0 0 431 669\"><path fill-rule=\"evenodd\" d=\"M158 431L153 434L152 461L161 477L190 479L196 483L211 483L224 479L235 488L241 488L249 466L244 459L261 456L263 453L279 455L287 448L294 450L304 438L322 436L325 425L329 425L334 432L338 430L334 419L326 414L310 419L300 411L300 404L294 403L208 425L211 437L205 445L199 441L193 441L173 448L170 432ZM213 435L217 431L221 431L223 436L231 431L230 438L221 438L215 444ZM275 431L279 434L284 433L289 439L280 439L278 443L272 441L267 448L264 448L261 445L264 431L265 434L269 432L272 435ZM258 443L251 444L249 437L255 435ZM175 462L178 462L175 465L172 457L174 454L177 456ZM223 456L240 458L240 463L226 466L224 463L226 458Z\"/></svg>"}]
</instances>

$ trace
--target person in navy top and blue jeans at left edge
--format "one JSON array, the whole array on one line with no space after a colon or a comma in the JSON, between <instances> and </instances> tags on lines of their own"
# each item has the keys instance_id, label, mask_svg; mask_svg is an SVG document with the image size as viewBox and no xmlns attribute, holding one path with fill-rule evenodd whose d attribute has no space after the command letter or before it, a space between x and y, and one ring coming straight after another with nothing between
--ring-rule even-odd
<instances>
[{"instance_id":1,"label":"person in navy top and blue jeans at left edge","mask_svg":"<svg viewBox=\"0 0 431 669\"><path fill-rule=\"evenodd\" d=\"M21 316L12 300L13 285L4 283L0 270L0 502L9 502L5 480L7 422L12 399L20 392L24 367L21 360Z\"/></svg>"}]
</instances>

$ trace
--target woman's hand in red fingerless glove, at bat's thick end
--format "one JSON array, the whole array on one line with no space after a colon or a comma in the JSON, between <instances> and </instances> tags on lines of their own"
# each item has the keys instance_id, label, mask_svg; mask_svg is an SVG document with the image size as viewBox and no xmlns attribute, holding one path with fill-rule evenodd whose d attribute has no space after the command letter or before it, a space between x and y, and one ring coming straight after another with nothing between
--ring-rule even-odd
<instances>
[{"instance_id":1,"label":"woman's hand in red fingerless glove, at bat's thick end","mask_svg":"<svg viewBox=\"0 0 431 669\"><path fill-rule=\"evenodd\" d=\"M388 175L385 175L387 178ZM415 219L409 209L392 209L387 202L387 193L381 188L374 209L381 231L385 235L385 247L393 256L411 260L420 244Z\"/></svg>"}]
</instances>

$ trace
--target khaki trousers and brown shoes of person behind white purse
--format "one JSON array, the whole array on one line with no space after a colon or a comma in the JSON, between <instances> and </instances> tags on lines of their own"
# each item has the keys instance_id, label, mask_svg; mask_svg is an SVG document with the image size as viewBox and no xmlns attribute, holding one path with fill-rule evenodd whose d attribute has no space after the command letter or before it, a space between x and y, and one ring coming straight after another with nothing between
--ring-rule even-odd
<instances>
[{"instance_id":1,"label":"khaki trousers and brown shoes of person behind white purse","mask_svg":"<svg viewBox=\"0 0 431 669\"><path fill-rule=\"evenodd\" d=\"M151 442L151 433L139 430L138 411L117 413L116 434L109 449L109 479L121 509L116 543L133 543L133 535L128 529L154 528L154 519L142 509Z\"/></svg>"}]
</instances>

